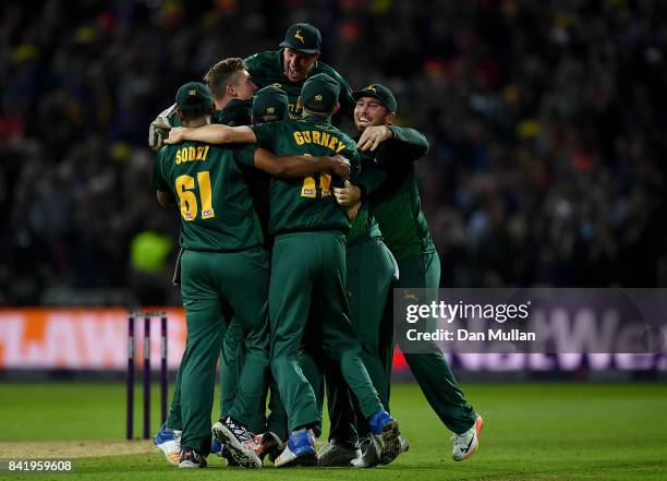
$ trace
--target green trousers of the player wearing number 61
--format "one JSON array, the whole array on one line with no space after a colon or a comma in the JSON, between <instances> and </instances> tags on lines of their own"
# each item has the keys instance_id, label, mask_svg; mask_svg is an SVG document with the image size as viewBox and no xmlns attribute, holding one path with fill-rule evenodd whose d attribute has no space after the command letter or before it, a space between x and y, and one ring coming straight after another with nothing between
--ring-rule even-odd
<instances>
[{"instance_id":1,"label":"green trousers of the player wearing number 61","mask_svg":"<svg viewBox=\"0 0 667 481\"><path fill-rule=\"evenodd\" d=\"M179 371L180 419L172 404L169 425L182 428L183 447L207 455L216 363L232 317L244 336L245 359L228 413L247 423L247 413L262 402L268 368L268 254L258 246L240 252L185 251L181 269L187 341Z\"/></svg>"}]
</instances>

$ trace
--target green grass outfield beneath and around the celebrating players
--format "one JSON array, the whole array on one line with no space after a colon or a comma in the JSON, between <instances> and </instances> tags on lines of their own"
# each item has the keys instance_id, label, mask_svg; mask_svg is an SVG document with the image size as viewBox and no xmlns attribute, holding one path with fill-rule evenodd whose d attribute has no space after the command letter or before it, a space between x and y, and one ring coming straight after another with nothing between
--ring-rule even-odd
<instances>
[{"instance_id":1,"label":"green grass outfield beneath and around the celebrating players","mask_svg":"<svg viewBox=\"0 0 667 481\"><path fill-rule=\"evenodd\" d=\"M278 470L267 466L251 472L228 469L222 460L209 458L208 469L184 472L169 466L158 452L114 454L119 445L146 450L148 443L122 441L125 394L121 383L3 383L0 384L0 458L7 459L10 447L24 452L24 458L39 458L43 446L51 452L62 449L59 457L68 458L78 455L70 449L82 443L73 441L104 442L96 444L95 457L75 459L73 473L0 472L0 479L667 479L667 385L553 383L466 384L464 387L485 418L481 448L464 462L452 461L449 433L430 411L419 387L397 384L391 393L392 410L411 447L389 466L369 470ZM157 429L157 389L153 392L153 400L156 418L153 425ZM135 412L141 414L138 400ZM136 418L135 433L141 433L140 416Z\"/></svg>"}]
</instances>

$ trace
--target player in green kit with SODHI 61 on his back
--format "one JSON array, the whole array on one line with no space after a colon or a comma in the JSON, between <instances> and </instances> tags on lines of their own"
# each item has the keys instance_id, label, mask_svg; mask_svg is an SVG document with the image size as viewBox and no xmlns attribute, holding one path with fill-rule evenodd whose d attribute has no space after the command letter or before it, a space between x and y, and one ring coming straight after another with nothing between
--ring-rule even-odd
<instances>
[{"instance_id":1,"label":"player in green kit with SODHI 61 on his back","mask_svg":"<svg viewBox=\"0 0 667 481\"><path fill-rule=\"evenodd\" d=\"M186 125L210 122L213 98L204 84L191 82L177 93L177 109ZM244 429L247 412L262 402L268 366L268 253L260 244L241 164L271 175L315 171L344 175L349 164L333 157L276 158L254 147L220 148L196 142L170 145L158 153L153 185L162 205L178 203L181 214L181 293L187 341L181 363L180 417L169 428L182 430L179 466L206 466L210 449L210 410L215 368L221 338L231 316L245 336L246 356L234 406L214 425L243 466L260 467Z\"/></svg>"}]
</instances>

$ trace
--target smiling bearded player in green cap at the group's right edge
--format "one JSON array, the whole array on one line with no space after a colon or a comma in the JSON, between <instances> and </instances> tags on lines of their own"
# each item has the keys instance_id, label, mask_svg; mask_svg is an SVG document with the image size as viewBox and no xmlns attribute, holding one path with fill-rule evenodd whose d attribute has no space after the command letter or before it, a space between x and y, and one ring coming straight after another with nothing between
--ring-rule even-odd
<instances>
[{"instance_id":1,"label":"smiling bearded player in green cap at the group's right edge","mask_svg":"<svg viewBox=\"0 0 667 481\"><path fill-rule=\"evenodd\" d=\"M428 151L428 141L414 129L391 125L397 101L384 85L368 85L353 96L354 124L361 132L357 146L387 173L369 203L385 242L398 261L397 288L437 292L440 263L421 209L416 182L416 160ZM361 195L354 187L349 190L352 200ZM465 399L445 357L437 348L404 356L428 404L454 433L453 459L468 459L478 446L483 420Z\"/></svg>"}]
</instances>

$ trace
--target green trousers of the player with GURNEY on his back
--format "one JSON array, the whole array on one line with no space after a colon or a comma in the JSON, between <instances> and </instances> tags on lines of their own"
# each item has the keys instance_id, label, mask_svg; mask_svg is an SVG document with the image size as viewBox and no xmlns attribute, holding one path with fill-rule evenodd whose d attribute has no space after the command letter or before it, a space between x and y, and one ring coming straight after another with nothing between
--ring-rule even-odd
<instances>
[{"instance_id":1,"label":"green trousers of the player with GURNEY on his back","mask_svg":"<svg viewBox=\"0 0 667 481\"><path fill-rule=\"evenodd\" d=\"M360 358L345 298L345 238L339 231L276 237L271 257L269 318L271 371L288 414L289 432L318 425L315 393L300 365L302 338L341 370L360 409L369 418L383 409Z\"/></svg>"}]
</instances>

